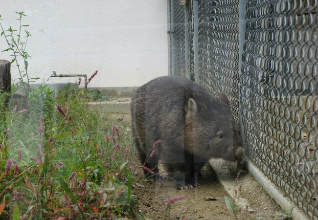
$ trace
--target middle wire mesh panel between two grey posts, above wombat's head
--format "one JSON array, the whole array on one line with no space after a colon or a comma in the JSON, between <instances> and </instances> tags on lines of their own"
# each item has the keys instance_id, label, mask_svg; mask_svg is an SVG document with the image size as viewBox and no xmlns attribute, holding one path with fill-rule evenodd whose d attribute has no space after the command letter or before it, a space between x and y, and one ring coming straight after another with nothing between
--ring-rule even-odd
<instances>
[{"instance_id":1,"label":"middle wire mesh panel between two grey posts, above wombat's head","mask_svg":"<svg viewBox=\"0 0 318 220\"><path fill-rule=\"evenodd\" d=\"M213 95L225 92L238 121L239 1L199 1L199 83Z\"/></svg>"}]
</instances>

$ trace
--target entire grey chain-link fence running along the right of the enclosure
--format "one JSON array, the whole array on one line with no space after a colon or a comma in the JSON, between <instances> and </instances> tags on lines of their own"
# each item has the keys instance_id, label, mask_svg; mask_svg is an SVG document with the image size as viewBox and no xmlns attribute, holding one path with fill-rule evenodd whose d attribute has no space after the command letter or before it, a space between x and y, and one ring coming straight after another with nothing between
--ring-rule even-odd
<instances>
[{"instance_id":1,"label":"entire grey chain-link fence running along the right of the enclosure","mask_svg":"<svg viewBox=\"0 0 318 220\"><path fill-rule=\"evenodd\" d=\"M187 19L178 19L188 23L180 25L183 32L174 30L174 39L182 36L184 44L172 47L173 74L186 77L189 68L190 78L198 76L198 83L213 95L227 93L243 128L250 161L308 217L317 220L318 1L178 3L174 0L175 21L182 11ZM239 15L240 7L246 10L243 15ZM196 19L198 30L193 25ZM183 54L176 55L177 51ZM199 67L191 69L196 59Z\"/></svg>"}]
</instances>

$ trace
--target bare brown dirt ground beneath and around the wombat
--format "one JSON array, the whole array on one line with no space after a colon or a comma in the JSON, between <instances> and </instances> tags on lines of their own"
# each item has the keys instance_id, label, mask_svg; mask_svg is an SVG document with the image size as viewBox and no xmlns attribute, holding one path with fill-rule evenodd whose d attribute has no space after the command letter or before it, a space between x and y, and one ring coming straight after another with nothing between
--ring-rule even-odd
<instances>
[{"instance_id":1,"label":"bare brown dirt ground beneath and around the wombat","mask_svg":"<svg viewBox=\"0 0 318 220\"><path fill-rule=\"evenodd\" d=\"M112 114L112 117L131 121L130 114ZM134 160L136 160L135 164L139 164L137 157ZM200 181L201 185L188 190L176 190L173 177L168 177L160 165L159 172L167 179L156 182L146 181L143 179L141 169L135 173L136 183L133 185L133 195L140 212L149 219L235 220L233 213L227 209L224 199L224 196L229 197L227 192L231 192L230 189L225 189L215 176L208 174L206 168L203 171L204 179ZM232 187L237 190L237 219L282 219L279 214L284 211L252 176L242 173L235 180L236 173L231 172L232 174L228 174L228 176L233 179L234 186ZM166 201L180 195L184 198L173 203L170 210L165 210ZM235 198L234 195L231 196ZM211 198L213 200L210 200Z\"/></svg>"}]
</instances>

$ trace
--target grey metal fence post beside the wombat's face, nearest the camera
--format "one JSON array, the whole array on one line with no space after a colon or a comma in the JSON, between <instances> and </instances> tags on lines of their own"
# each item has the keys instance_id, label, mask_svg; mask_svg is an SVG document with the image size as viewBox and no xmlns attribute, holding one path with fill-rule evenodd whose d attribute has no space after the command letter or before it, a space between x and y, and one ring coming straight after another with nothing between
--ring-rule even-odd
<instances>
[{"instance_id":1,"label":"grey metal fence post beside the wombat's face, nearest the camera","mask_svg":"<svg viewBox=\"0 0 318 220\"><path fill-rule=\"evenodd\" d=\"M243 52L244 52L244 42L245 42L245 30L246 30L246 5L247 0L239 1L239 74L240 78L242 76L242 66L243 66ZM242 101L241 101L241 89L239 89L239 124L241 136L243 139L243 144L245 143L245 133L243 126L243 115L242 115Z\"/></svg>"}]
</instances>

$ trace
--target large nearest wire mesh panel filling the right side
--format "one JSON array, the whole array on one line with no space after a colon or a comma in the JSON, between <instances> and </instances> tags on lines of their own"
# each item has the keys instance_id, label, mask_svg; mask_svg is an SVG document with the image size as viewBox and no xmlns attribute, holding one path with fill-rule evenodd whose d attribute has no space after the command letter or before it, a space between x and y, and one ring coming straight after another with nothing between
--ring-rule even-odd
<instances>
[{"instance_id":1,"label":"large nearest wire mesh panel filling the right side","mask_svg":"<svg viewBox=\"0 0 318 220\"><path fill-rule=\"evenodd\" d=\"M318 3L248 0L240 77L249 158L318 219Z\"/></svg>"}]
</instances>

